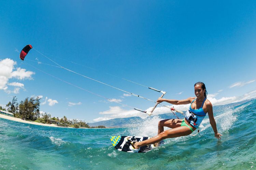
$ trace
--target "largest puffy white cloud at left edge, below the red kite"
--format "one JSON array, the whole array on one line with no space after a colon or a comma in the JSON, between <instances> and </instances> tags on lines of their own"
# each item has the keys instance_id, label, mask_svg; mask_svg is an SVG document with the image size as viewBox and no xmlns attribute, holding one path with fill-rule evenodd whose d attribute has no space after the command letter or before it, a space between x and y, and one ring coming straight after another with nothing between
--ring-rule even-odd
<instances>
[{"instance_id":1,"label":"largest puffy white cloud at left edge, below the red kite","mask_svg":"<svg viewBox=\"0 0 256 170\"><path fill-rule=\"evenodd\" d=\"M9 79L14 78L18 80L32 79L34 72L26 71L26 69L15 68L17 63L10 58L5 58L0 61L0 90L4 90L6 93L18 93L20 88L24 88L24 84L13 82L8 83ZM8 86L16 86L20 88L14 88L14 90L7 90Z\"/></svg>"}]
</instances>

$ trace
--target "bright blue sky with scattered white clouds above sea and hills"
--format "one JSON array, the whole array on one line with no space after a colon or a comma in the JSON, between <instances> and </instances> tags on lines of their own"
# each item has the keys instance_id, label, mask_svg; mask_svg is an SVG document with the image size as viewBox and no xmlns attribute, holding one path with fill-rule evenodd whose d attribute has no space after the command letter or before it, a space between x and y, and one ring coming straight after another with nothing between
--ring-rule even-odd
<instances>
[{"instance_id":1,"label":"bright blue sky with scattered white clouds above sea and hills","mask_svg":"<svg viewBox=\"0 0 256 170\"><path fill-rule=\"evenodd\" d=\"M2 107L13 96L39 96L41 112L95 122L147 117L113 101L142 110L155 105L83 76L153 101L161 94L147 87L181 100L195 96L199 81L213 105L256 97L253 0L6 0L0 23ZM23 62L19 53L27 44L33 49ZM169 112L158 106L154 115Z\"/></svg>"}]
</instances>

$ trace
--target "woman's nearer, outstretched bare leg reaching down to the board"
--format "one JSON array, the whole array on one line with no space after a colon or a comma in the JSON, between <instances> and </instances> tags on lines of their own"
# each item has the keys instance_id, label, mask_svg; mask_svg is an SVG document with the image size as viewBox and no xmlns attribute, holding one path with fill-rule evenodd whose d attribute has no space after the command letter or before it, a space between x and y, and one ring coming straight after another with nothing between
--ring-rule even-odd
<instances>
[{"instance_id":1,"label":"woman's nearer, outstretched bare leg reaching down to the board","mask_svg":"<svg viewBox=\"0 0 256 170\"><path fill-rule=\"evenodd\" d=\"M135 142L134 143L134 148L138 149L140 147L143 147L145 145L150 145L150 144L154 144L156 142L159 142L163 139L166 138L175 138L175 137L180 137L180 136L187 136L189 134L191 134L192 131L187 127L187 126L180 126L174 129L169 129L167 131L163 131L160 134L158 134L157 136L141 141L141 142Z\"/></svg>"}]
</instances>

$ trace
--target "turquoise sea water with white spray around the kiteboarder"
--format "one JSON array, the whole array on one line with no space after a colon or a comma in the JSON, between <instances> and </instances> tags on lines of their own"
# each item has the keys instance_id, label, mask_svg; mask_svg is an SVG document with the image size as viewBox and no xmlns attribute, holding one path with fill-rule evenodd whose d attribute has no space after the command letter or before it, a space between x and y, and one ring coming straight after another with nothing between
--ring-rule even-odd
<instances>
[{"instance_id":1,"label":"turquoise sea water with white spray around the kiteboarder","mask_svg":"<svg viewBox=\"0 0 256 170\"><path fill-rule=\"evenodd\" d=\"M256 169L256 100L206 117L197 136L165 140L146 153L114 150L111 135L154 136L160 120L134 128L68 129L0 119L0 169ZM139 124L139 126L137 126Z\"/></svg>"}]
</instances>

